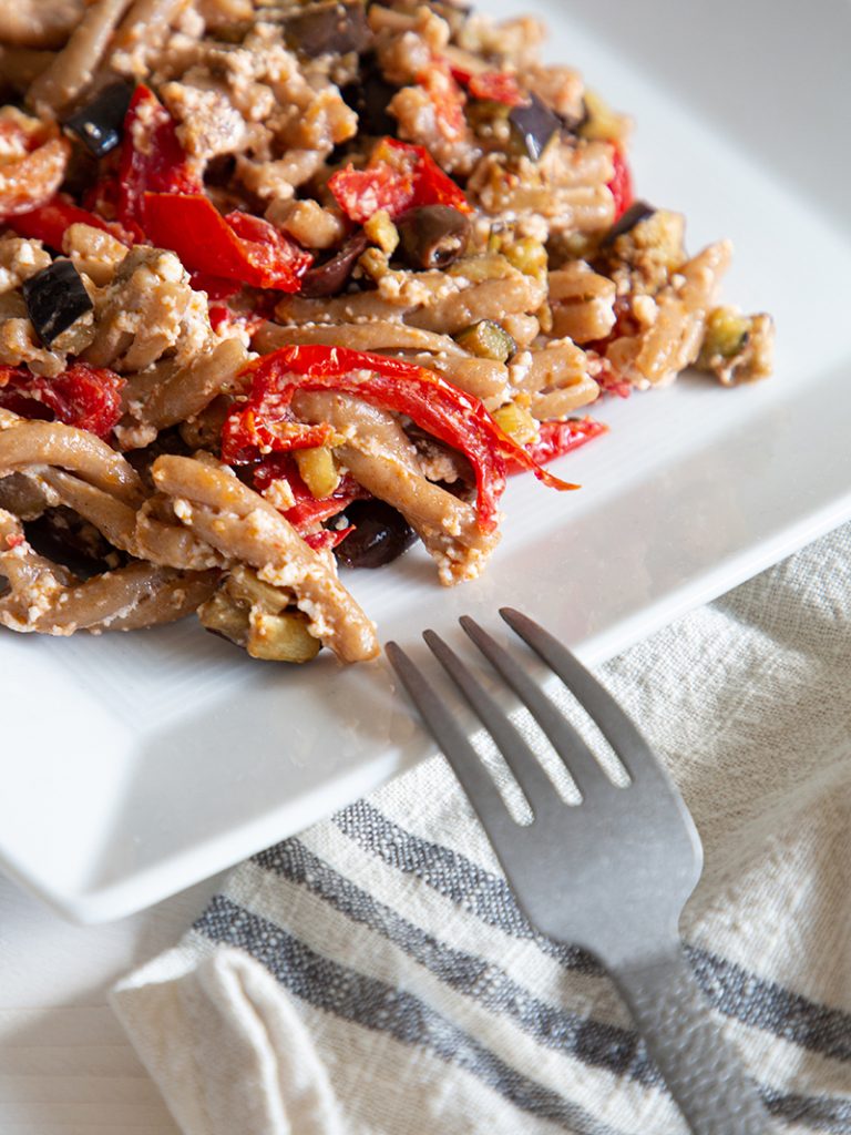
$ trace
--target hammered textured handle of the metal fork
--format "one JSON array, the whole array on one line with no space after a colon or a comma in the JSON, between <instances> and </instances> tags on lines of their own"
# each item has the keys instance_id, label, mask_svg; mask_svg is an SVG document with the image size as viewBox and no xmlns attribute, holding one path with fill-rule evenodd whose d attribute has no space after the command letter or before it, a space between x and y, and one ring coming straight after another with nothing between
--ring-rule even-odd
<instances>
[{"instance_id":1,"label":"hammered textured handle of the metal fork","mask_svg":"<svg viewBox=\"0 0 851 1135\"><path fill-rule=\"evenodd\" d=\"M679 943L651 961L610 972L693 1135L774 1130L755 1084L711 1019Z\"/></svg>"}]
</instances>

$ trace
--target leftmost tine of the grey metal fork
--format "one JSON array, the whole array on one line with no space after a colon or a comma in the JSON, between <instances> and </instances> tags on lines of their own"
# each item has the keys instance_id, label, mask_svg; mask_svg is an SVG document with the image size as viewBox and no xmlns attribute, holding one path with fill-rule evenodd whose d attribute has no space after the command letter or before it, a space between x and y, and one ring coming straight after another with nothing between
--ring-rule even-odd
<instances>
[{"instance_id":1,"label":"leftmost tine of the grey metal fork","mask_svg":"<svg viewBox=\"0 0 851 1135\"><path fill-rule=\"evenodd\" d=\"M388 642L385 653L402 680L420 716L440 746L444 756L461 781L485 831L494 843L507 827L515 827L496 784L481 758L446 709L435 688L396 642Z\"/></svg>"}]
</instances>

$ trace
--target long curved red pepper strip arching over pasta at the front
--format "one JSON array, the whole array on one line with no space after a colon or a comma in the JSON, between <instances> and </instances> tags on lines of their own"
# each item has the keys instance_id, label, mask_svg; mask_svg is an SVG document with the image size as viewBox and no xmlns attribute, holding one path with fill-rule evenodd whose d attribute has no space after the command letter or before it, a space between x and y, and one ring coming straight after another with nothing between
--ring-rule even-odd
<instances>
[{"instance_id":1,"label":"long curved red pepper strip arching over pasta at the front","mask_svg":"<svg viewBox=\"0 0 851 1135\"><path fill-rule=\"evenodd\" d=\"M477 519L483 532L496 528L508 462L531 470L551 488L579 487L542 469L499 428L478 398L422 367L385 355L310 344L273 351L251 363L247 373L252 375L250 405L275 395L283 407L297 389L342 390L407 414L426 432L470 460L475 472Z\"/></svg>"}]
</instances>

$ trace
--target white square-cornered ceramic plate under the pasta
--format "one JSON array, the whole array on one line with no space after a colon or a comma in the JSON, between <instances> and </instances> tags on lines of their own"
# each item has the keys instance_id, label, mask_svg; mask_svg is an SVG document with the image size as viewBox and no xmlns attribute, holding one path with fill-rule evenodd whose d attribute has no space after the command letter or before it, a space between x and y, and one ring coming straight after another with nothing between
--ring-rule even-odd
<instances>
[{"instance_id":1,"label":"white square-cornered ceramic plate under the pasta","mask_svg":"<svg viewBox=\"0 0 851 1135\"><path fill-rule=\"evenodd\" d=\"M692 250L733 238L725 295L774 313L777 373L600 405L610 434L557 469L582 491L515 479L474 583L441 589L419 549L347 582L382 641L452 634L464 612L494 625L509 603L598 663L851 515L851 8L596 0L544 15L549 58L634 115L641 196L685 212ZM194 621L2 633L0 672L0 864L81 920L187 886L429 751L384 661L255 663Z\"/></svg>"}]
</instances>

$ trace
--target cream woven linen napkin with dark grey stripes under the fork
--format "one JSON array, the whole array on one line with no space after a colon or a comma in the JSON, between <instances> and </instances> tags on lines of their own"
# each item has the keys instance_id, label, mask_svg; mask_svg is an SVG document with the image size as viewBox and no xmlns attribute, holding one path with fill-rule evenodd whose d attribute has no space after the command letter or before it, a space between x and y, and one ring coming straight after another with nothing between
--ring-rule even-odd
<instances>
[{"instance_id":1,"label":"cream woven linen napkin with dark grey stripes under the fork","mask_svg":"<svg viewBox=\"0 0 851 1135\"><path fill-rule=\"evenodd\" d=\"M851 526L599 671L694 815L688 956L790 1132L851 1133L849 563ZM113 1004L187 1135L685 1130L443 758L236 868Z\"/></svg>"}]
</instances>

